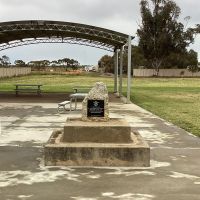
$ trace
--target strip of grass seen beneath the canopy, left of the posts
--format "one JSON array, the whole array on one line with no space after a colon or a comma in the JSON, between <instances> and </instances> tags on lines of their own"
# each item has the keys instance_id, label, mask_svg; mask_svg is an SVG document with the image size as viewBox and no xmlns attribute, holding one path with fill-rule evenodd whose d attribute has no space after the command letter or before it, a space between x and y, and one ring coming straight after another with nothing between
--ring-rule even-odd
<instances>
[{"instance_id":1,"label":"strip of grass seen beneath the canopy, left of the posts","mask_svg":"<svg viewBox=\"0 0 200 200\"><path fill-rule=\"evenodd\" d=\"M113 80L108 77L90 75L28 75L0 79L0 91L14 92L14 84L42 84L43 92L73 92L73 87L89 87L97 81L103 81L110 91L113 89Z\"/></svg>"}]
</instances>

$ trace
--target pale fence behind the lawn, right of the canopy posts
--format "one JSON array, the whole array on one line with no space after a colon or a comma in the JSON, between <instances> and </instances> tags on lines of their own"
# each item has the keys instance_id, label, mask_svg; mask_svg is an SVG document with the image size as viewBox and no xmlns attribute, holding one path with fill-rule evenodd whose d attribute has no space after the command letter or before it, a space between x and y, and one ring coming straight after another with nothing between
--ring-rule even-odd
<instances>
[{"instance_id":1,"label":"pale fence behind the lawn, right of the canopy posts","mask_svg":"<svg viewBox=\"0 0 200 200\"><path fill-rule=\"evenodd\" d=\"M134 69L136 77L152 77L155 74L153 69ZM159 77L200 77L200 72L192 73L187 69L160 69Z\"/></svg>"}]
</instances>

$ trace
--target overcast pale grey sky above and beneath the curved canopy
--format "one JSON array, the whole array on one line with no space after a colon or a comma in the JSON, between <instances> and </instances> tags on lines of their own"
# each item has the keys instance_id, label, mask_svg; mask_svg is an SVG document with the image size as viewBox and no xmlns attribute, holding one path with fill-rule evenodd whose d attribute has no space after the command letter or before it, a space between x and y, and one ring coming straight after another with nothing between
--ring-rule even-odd
<instances>
[{"instance_id":1,"label":"overcast pale grey sky above and beneath the curved canopy","mask_svg":"<svg viewBox=\"0 0 200 200\"><path fill-rule=\"evenodd\" d=\"M200 23L199 0L175 0L181 8L179 21L194 27ZM125 34L136 35L141 22L140 0L0 0L0 22L16 20L56 20L89 24ZM186 22L185 17L190 16ZM136 37L133 44L138 43ZM198 52L200 61L200 36L190 46ZM0 52L11 61L22 59L73 58L84 65L96 65L105 54L105 50L71 44L35 44L16 47Z\"/></svg>"}]
</instances>

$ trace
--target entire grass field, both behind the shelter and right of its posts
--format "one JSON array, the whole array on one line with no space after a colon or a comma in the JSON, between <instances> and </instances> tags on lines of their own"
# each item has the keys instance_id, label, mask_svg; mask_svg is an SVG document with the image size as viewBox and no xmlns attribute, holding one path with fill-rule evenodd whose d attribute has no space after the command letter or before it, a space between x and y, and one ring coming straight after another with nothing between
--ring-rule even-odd
<instances>
[{"instance_id":1,"label":"entire grass field, both behind the shelter and right of its posts","mask_svg":"<svg viewBox=\"0 0 200 200\"><path fill-rule=\"evenodd\" d=\"M113 91L113 78L95 75L29 75L0 79L0 91L13 92L16 83L41 83L45 92L72 92L97 81ZM124 85L126 80L124 80ZM125 91L126 88L124 87ZM137 78L132 81L131 100L154 114L200 136L200 79Z\"/></svg>"}]
</instances>

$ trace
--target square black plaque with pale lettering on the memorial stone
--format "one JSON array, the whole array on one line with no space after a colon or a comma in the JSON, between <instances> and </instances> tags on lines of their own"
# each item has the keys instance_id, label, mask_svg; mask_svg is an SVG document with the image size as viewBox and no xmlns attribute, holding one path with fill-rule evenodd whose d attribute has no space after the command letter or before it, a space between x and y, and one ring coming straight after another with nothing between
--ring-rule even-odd
<instances>
[{"instance_id":1,"label":"square black plaque with pale lettering on the memorial stone","mask_svg":"<svg viewBox=\"0 0 200 200\"><path fill-rule=\"evenodd\" d=\"M88 117L104 117L104 100L88 100Z\"/></svg>"}]
</instances>

